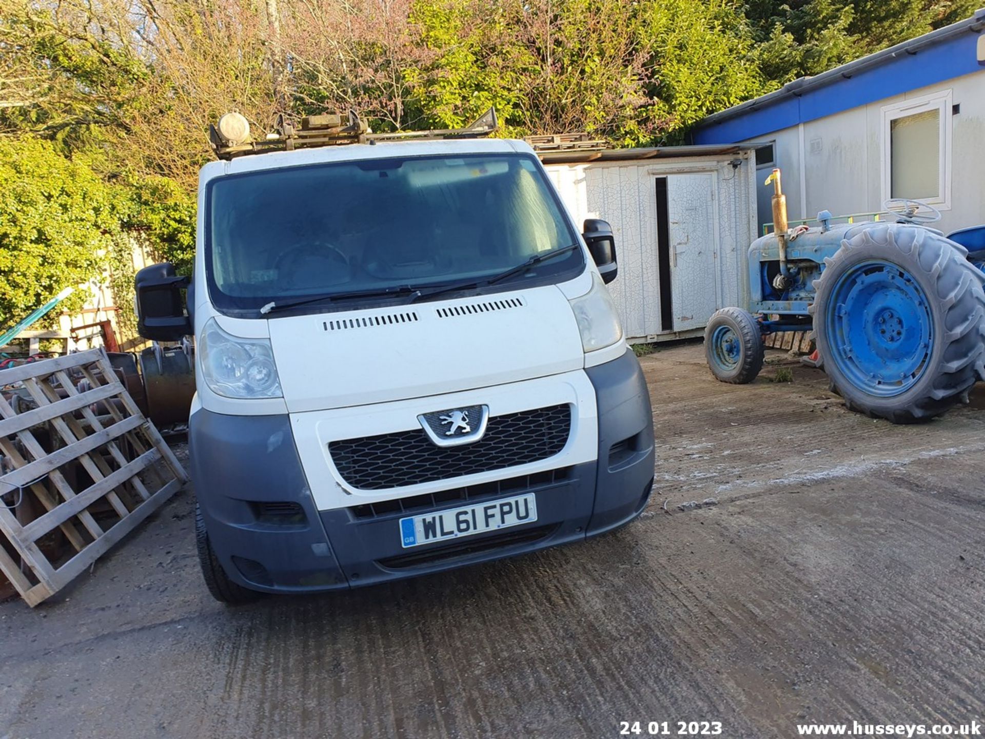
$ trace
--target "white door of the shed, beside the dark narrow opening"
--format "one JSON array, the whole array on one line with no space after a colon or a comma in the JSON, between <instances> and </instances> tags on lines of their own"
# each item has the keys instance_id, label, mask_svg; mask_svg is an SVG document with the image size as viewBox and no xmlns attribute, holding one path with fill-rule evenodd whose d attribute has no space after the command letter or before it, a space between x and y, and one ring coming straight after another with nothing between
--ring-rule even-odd
<instances>
[{"instance_id":1,"label":"white door of the shed, beside the dark narrow opening","mask_svg":"<svg viewBox=\"0 0 985 739\"><path fill-rule=\"evenodd\" d=\"M714 174L667 177L674 330L701 328L717 308Z\"/></svg>"}]
</instances>

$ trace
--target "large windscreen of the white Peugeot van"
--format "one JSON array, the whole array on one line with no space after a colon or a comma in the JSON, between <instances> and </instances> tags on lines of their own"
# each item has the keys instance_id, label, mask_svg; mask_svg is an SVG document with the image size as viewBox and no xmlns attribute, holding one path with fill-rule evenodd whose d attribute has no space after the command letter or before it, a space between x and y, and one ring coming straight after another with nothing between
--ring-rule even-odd
<instances>
[{"instance_id":1,"label":"large windscreen of the white Peugeot van","mask_svg":"<svg viewBox=\"0 0 985 739\"><path fill-rule=\"evenodd\" d=\"M206 271L220 310L481 283L576 241L527 155L264 169L217 178L207 193ZM496 288L583 267L575 249Z\"/></svg>"}]
</instances>

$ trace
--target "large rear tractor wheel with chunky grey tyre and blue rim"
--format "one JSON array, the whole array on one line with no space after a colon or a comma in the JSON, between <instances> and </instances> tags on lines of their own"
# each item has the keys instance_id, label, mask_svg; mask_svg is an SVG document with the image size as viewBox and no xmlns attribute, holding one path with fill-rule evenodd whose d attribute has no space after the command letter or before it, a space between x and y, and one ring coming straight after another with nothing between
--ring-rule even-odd
<instances>
[{"instance_id":1,"label":"large rear tractor wheel with chunky grey tyre and blue rim","mask_svg":"<svg viewBox=\"0 0 985 739\"><path fill-rule=\"evenodd\" d=\"M927 421L985 379L985 275L965 256L928 229L886 224L824 260L810 310L823 369L849 410Z\"/></svg>"}]
</instances>

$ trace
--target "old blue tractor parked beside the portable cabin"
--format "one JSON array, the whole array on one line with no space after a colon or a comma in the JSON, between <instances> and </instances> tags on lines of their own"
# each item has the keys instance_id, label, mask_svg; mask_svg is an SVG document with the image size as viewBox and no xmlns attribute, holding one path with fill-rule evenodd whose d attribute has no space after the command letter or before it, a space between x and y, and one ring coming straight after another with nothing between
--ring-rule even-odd
<instances>
[{"instance_id":1,"label":"old blue tractor parked beside the portable cabin","mask_svg":"<svg viewBox=\"0 0 985 739\"><path fill-rule=\"evenodd\" d=\"M814 364L851 410L905 424L967 402L985 379L985 227L945 236L927 226L935 208L895 198L883 219L831 225L821 212L788 229L779 169L766 181L775 231L749 249L750 309L708 322L712 373L751 382L764 335L813 331Z\"/></svg>"}]
</instances>

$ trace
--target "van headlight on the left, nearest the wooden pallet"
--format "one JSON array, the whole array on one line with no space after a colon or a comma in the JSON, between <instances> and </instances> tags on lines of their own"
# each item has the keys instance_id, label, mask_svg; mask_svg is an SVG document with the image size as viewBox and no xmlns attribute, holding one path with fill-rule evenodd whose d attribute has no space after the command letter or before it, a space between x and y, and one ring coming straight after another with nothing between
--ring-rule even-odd
<instances>
[{"instance_id":1,"label":"van headlight on the left, nearest the wooden pallet","mask_svg":"<svg viewBox=\"0 0 985 739\"><path fill-rule=\"evenodd\" d=\"M280 398L281 379L270 339L230 336L210 318L198 347L205 383L227 398Z\"/></svg>"}]
</instances>

